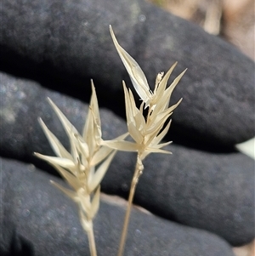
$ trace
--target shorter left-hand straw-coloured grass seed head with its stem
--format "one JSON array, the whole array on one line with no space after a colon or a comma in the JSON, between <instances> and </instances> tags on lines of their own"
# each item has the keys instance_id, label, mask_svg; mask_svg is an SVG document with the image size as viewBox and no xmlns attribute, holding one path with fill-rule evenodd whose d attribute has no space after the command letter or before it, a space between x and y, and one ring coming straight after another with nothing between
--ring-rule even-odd
<instances>
[{"instance_id":1,"label":"shorter left-hand straw-coloured grass seed head with its stem","mask_svg":"<svg viewBox=\"0 0 255 256\"><path fill-rule=\"evenodd\" d=\"M65 115L48 99L49 104L59 117L65 128L71 145L71 153L59 142L59 139L47 128L42 119L40 125L48 141L57 156L35 155L49 162L59 171L59 174L67 181L72 190L63 187L51 180L51 183L63 191L65 195L77 202L82 227L88 232L91 255L96 255L93 233L93 219L99 210L100 182L104 178L111 160L116 151L101 145L101 123L99 117L99 105L92 82L92 96L88 110L88 116L82 135L68 121ZM124 139L127 134L116 139Z\"/></svg>"}]
</instances>

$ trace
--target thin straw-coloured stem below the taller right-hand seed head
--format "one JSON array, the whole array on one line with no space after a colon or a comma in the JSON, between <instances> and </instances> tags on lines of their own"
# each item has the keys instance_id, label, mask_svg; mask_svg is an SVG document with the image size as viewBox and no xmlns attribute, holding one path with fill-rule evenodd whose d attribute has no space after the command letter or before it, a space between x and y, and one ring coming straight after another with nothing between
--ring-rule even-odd
<instances>
[{"instance_id":1,"label":"thin straw-coloured stem below the taller right-hand seed head","mask_svg":"<svg viewBox=\"0 0 255 256\"><path fill-rule=\"evenodd\" d=\"M132 205L133 205L133 196L134 196L134 192L136 189L136 185L138 184L138 181L139 181L139 176L142 174L143 169L144 169L144 166L143 166L142 162L140 161L139 155L138 155L136 166L135 166L135 171L134 171L133 179L132 179L132 183L131 183L131 188L130 188L129 196L128 196L127 211L126 211L124 224L123 224L123 228L122 228L122 237L121 237L121 242L120 242L120 246L119 246L119 250L118 250L118 254L117 254L118 256L122 256L124 253L125 244L126 244L126 240L127 240L127 228L128 228L130 213L131 213L131 209L132 209Z\"/></svg>"}]
</instances>

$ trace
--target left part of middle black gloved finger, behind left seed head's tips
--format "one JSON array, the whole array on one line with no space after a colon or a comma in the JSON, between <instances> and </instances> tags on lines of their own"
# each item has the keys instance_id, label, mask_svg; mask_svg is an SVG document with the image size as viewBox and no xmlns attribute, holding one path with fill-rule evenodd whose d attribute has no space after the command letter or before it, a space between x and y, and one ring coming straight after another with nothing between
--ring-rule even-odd
<instances>
[{"instance_id":1,"label":"left part of middle black gloved finger, behind left seed head's tips","mask_svg":"<svg viewBox=\"0 0 255 256\"><path fill-rule=\"evenodd\" d=\"M34 151L53 154L37 122L38 117L47 123L49 129L56 128L54 133L63 145L68 147L65 130L58 117L54 115L47 97L53 100L78 131L82 132L88 112L87 104L82 104L80 100L72 99L65 94L45 89L37 82L11 77L4 73L0 74L0 83L2 156L30 162L35 159L32 156ZM105 139L113 139L127 132L126 123L109 110L102 110L101 122Z\"/></svg>"}]
</instances>

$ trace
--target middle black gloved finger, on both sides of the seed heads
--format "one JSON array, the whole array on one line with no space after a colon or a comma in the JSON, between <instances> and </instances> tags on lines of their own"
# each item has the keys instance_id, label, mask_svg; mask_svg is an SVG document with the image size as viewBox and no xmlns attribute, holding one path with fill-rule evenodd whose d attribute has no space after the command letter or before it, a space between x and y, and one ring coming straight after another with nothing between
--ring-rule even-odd
<instances>
[{"instance_id":1,"label":"middle black gloved finger, on both sides of the seed heads","mask_svg":"<svg viewBox=\"0 0 255 256\"><path fill-rule=\"evenodd\" d=\"M7 75L1 81L1 155L48 169L45 162L32 156L34 151L54 156L37 117L42 117L67 147L68 141L46 97L54 100L79 131L88 105L35 82ZM101 109L100 115L104 139L127 131L125 121L111 111ZM173 155L154 154L144 161L135 202L166 219L212 231L235 246L250 242L254 237L254 161L236 152L216 154L180 145L169 145L167 150ZM118 153L102 190L127 196L134 161L134 154Z\"/></svg>"}]
</instances>

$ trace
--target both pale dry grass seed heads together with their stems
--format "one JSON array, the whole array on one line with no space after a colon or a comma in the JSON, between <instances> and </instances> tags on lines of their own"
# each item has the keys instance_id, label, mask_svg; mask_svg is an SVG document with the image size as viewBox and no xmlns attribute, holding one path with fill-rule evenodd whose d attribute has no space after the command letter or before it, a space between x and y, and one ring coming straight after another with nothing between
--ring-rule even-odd
<instances>
[{"instance_id":1,"label":"both pale dry grass seed heads together with their stems","mask_svg":"<svg viewBox=\"0 0 255 256\"><path fill-rule=\"evenodd\" d=\"M127 212L124 219L118 256L124 253L133 196L139 182L139 177L144 171L144 158L150 153L171 154L171 152L161 149L165 145L169 145L171 141L161 143L161 139L163 139L170 128L171 120L169 120L169 117L182 100L178 100L175 105L168 106L173 89L185 72L183 71L167 87L168 78L177 65L175 63L165 76L163 72L157 75L155 88L152 92L144 72L138 63L119 45L111 26L110 32L116 50L131 78L133 87L142 100L138 108L132 91L130 88L127 89L125 82L123 82L128 133L112 140L102 139L99 105L92 82L92 96L82 135L77 132L77 129L67 120L59 108L54 105L54 102L48 99L49 104L59 117L69 137L71 153L65 150L65 147L49 131L44 122L42 122L42 119L39 119L39 123L57 156L43 156L35 153L36 156L49 162L56 168L59 174L73 188L73 190L69 190L51 181L60 191L71 197L74 202L77 202L82 228L88 233L90 254L92 256L97 255L94 242L93 219L99 210L100 182L104 178L116 151L135 151L137 152L137 162L129 191ZM144 110L147 108L148 112L146 117L144 117ZM132 137L133 141L125 140L128 134Z\"/></svg>"}]
</instances>

